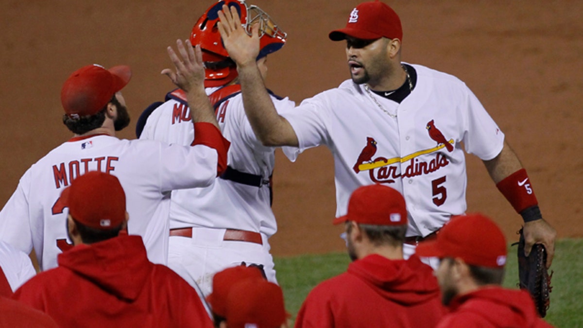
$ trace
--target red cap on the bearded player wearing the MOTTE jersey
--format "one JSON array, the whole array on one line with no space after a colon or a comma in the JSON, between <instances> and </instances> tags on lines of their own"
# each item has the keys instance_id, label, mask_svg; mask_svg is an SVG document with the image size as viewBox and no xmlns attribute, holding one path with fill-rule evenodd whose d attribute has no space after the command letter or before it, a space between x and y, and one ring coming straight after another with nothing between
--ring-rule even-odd
<instances>
[{"instance_id":1,"label":"red cap on the bearded player wearing the MOTTE jersey","mask_svg":"<svg viewBox=\"0 0 583 328\"><path fill-rule=\"evenodd\" d=\"M61 89L65 113L76 118L99 112L131 78L132 71L125 65L105 69L93 64L78 69L66 79Z\"/></svg>"}]
</instances>

